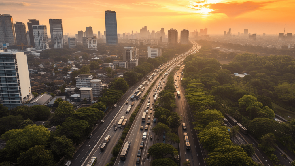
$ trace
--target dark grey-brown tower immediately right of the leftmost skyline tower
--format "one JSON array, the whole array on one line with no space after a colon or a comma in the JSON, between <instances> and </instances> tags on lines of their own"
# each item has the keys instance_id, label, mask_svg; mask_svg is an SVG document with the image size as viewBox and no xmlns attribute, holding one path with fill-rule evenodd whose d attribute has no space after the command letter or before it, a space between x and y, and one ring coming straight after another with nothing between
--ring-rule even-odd
<instances>
[{"instance_id":1,"label":"dark grey-brown tower immediately right of the leftmost skyline tower","mask_svg":"<svg viewBox=\"0 0 295 166\"><path fill-rule=\"evenodd\" d=\"M17 38L17 44L20 45L23 43L24 45L28 45L27 30L24 22L15 22L14 30Z\"/></svg>"}]
</instances>

